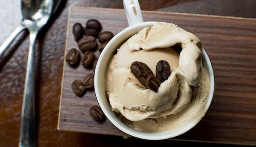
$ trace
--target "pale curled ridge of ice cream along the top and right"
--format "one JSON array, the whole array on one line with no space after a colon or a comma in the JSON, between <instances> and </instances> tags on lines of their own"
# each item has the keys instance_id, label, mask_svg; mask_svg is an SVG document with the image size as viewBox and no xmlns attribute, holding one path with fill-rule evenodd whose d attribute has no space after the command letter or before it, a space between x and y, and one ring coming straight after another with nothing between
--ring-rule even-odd
<instances>
[{"instance_id":1,"label":"pale curled ridge of ice cream along the top and right","mask_svg":"<svg viewBox=\"0 0 256 147\"><path fill-rule=\"evenodd\" d=\"M197 86L200 80L202 53L197 46L199 41L194 34L179 28L176 24L166 22L157 22L151 29L144 28L127 40L131 51L148 51L182 43L179 68L185 81L191 86Z\"/></svg>"}]
</instances>

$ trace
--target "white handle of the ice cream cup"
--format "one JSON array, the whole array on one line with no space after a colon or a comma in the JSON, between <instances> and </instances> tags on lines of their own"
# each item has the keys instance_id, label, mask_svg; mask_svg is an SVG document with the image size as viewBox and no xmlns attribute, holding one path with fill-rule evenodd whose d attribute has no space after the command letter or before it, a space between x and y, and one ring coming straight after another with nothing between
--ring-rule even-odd
<instances>
[{"instance_id":1,"label":"white handle of the ice cream cup","mask_svg":"<svg viewBox=\"0 0 256 147\"><path fill-rule=\"evenodd\" d=\"M129 26L144 21L138 0L123 0L123 7Z\"/></svg>"}]
</instances>

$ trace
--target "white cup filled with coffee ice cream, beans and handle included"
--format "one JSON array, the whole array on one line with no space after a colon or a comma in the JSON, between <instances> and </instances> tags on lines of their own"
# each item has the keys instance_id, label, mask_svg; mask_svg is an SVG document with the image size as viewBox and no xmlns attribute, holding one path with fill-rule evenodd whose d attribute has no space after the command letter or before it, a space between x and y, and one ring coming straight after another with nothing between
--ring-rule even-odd
<instances>
[{"instance_id":1,"label":"white cup filled with coffee ice cream, beans and handle included","mask_svg":"<svg viewBox=\"0 0 256 147\"><path fill-rule=\"evenodd\" d=\"M214 71L200 39L176 24L143 22L138 1L123 1L130 27L102 51L95 69L100 108L118 129L160 140L193 128L214 93Z\"/></svg>"}]
</instances>

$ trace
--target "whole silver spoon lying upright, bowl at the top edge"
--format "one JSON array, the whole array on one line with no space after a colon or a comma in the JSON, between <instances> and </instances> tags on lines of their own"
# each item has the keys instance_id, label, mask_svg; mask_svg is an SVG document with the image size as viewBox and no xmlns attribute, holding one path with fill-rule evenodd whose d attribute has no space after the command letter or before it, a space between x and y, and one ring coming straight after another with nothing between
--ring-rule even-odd
<instances>
[{"instance_id":1,"label":"whole silver spoon lying upright, bowl at the top edge","mask_svg":"<svg viewBox=\"0 0 256 147\"><path fill-rule=\"evenodd\" d=\"M46 24L53 9L52 0L22 0L24 27L29 30L30 45L22 105L19 146L36 146L35 139L35 51L36 35Z\"/></svg>"}]
</instances>

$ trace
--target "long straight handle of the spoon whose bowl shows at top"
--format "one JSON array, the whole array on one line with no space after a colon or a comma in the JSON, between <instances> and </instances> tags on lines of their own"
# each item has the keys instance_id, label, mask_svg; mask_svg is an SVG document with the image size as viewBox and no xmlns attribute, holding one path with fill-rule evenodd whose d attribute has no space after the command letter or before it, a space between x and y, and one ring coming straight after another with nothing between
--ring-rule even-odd
<instances>
[{"instance_id":1,"label":"long straight handle of the spoon whose bowl shows at top","mask_svg":"<svg viewBox=\"0 0 256 147\"><path fill-rule=\"evenodd\" d=\"M19 146L36 146L35 141L35 40L37 32L30 32L30 45L22 104Z\"/></svg>"}]
</instances>

